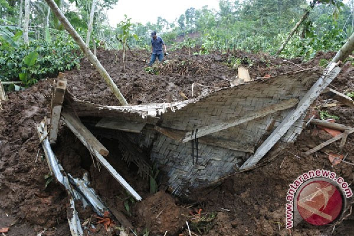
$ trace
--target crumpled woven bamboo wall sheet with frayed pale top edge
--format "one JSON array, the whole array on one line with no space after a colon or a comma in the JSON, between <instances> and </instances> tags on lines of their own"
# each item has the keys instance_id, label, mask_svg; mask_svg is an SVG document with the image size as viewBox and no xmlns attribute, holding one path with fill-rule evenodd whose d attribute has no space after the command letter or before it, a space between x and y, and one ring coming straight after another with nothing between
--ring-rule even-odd
<instances>
[{"instance_id":1,"label":"crumpled woven bamboo wall sheet with frayed pale top edge","mask_svg":"<svg viewBox=\"0 0 354 236\"><path fill-rule=\"evenodd\" d=\"M150 158L167 173L168 184L175 189L174 193L188 194L189 188L206 185L235 172L251 154L199 143L198 163L193 165L192 142L180 143L156 133L154 125L188 132L250 111L257 111L282 100L290 98L300 100L320 74L318 69L296 71L223 88L205 96L175 103L112 107L67 97L70 99L70 106L66 106L66 109L75 110L79 116L121 117L125 120L147 123L142 133L126 135L139 147L148 148L153 145ZM279 111L245 122L215 132L211 136L218 140L241 143L255 151L291 110ZM299 119L282 137L281 142L295 141L302 129L303 122ZM134 155L134 158L137 157ZM138 163L139 160L134 162Z\"/></svg>"}]
</instances>

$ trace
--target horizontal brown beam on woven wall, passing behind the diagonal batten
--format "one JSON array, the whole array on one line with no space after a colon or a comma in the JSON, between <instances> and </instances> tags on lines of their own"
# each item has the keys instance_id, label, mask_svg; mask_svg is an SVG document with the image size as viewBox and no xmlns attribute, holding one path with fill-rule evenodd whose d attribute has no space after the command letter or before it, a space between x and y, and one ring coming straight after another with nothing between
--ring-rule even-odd
<instances>
[{"instance_id":1,"label":"horizontal brown beam on woven wall, passing behind the diagonal batten","mask_svg":"<svg viewBox=\"0 0 354 236\"><path fill-rule=\"evenodd\" d=\"M162 128L159 126L155 126L155 130L178 142L181 142L182 137L185 134L185 131L182 130L172 129L172 128ZM235 142L234 140L229 140L229 139L215 138L212 136L204 136L198 138L198 142L208 144L211 146L226 148L234 151L254 153L254 147L251 147L250 145L240 144L239 142Z\"/></svg>"}]
</instances>

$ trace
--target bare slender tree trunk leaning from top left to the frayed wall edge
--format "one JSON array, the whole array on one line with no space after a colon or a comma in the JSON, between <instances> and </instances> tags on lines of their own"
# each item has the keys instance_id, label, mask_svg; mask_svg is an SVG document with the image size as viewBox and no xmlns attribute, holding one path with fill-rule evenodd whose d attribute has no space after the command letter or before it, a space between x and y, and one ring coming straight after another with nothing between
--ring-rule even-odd
<instances>
[{"instance_id":1,"label":"bare slender tree trunk leaning from top left to the frayed wall edge","mask_svg":"<svg viewBox=\"0 0 354 236\"><path fill-rule=\"evenodd\" d=\"M93 55L93 53L91 52L90 48L86 46L84 40L82 40L80 35L76 32L76 30L73 28L73 26L68 21L68 19L59 10L59 8L58 8L57 4L54 2L54 0L45 0L45 1L50 6L52 12L56 15L56 17L59 19L59 21L64 25L65 29L69 32L69 34L73 37L73 39L79 45L79 47L81 48L82 52L85 53L86 57L96 67L96 69L98 70L99 74L103 77L104 81L107 83L107 85L110 88L110 90L118 98L119 102L122 105L128 105L128 103L125 100L124 96L119 91L118 87L114 84L112 78L109 76L109 74L104 69L104 67L101 65L101 63L98 61L97 57L95 57L95 55Z\"/></svg>"}]
</instances>

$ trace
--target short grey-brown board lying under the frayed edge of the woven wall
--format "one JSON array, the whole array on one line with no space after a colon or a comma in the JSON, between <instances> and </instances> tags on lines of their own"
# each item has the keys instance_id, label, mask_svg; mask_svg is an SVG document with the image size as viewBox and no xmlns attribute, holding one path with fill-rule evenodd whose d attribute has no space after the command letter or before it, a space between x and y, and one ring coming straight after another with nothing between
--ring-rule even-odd
<instances>
[{"instance_id":1,"label":"short grey-brown board lying under the frayed edge of the woven wall","mask_svg":"<svg viewBox=\"0 0 354 236\"><path fill-rule=\"evenodd\" d=\"M116 129L131 133L141 133L141 130L144 128L145 125L146 123L143 122L103 117L100 121L98 121L96 127Z\"/></svg>"}]
</instances>

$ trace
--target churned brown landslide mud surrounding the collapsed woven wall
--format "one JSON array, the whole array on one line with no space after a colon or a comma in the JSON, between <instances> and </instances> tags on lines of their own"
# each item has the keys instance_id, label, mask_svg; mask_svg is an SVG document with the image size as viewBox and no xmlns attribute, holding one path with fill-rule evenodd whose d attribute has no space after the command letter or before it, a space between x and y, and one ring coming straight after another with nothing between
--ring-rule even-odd
<instances>
[{"instance_id":1,"label":"churned brown landslide mud surrounding the collapsed woven wall","mask_svg":"<svg viewBox=\"0 0 354 236\"><path fill-rule=\"evenodd\" d=\"M319 53L311 62L301 63L301 60L295 59L291 63L266 54L253 55L236 51L229 52L228 55L216 53L189 56L188 50L181 50L171 52L166 59L184 62L190 73L179 75L178 71L166 70L156 75L147 73L144 69L146 63L143 61L148 59L148 55L143 51L135 53L139 55L138 58L127 55L126 70L123 71L122 52L97 52L98 59L130 104L182 100L181 91L191 98L194 83L211 87L195 85L194 96L198 96L203 90L212 91L212 87L229 86L228 80L236 74L228 60L231 55L249 66L252 78L299 70L299 67L314 67L321 58L330 60L333 57L333 53ZM188 68L188 62L201 64L201 74L196 74L195 71L193 73L193 68ZM350 63L346 64L332 85L341 92L353 91L353 75L353 67ZM68 90L77 98L104 105L119 105L87 60L82 60L80 69L65 72L65 77L68 79ZM36 132L36 125L45 116L50 116L52 85L53 79L39 81L25 91L8 93L9 101L1 103L0 228L10 227L6 235L70 234L66 218L68 197L66 191L55 181L45 187L44 176L49 170ZM326 97L321 96L314 105L323 103L324 99ZM353 109L334 107L326 110L331 115L339 116L338 123L353 127ZM189 235L186 220L197 235L289 235L284 225L285 197L288 185L298 175L311 169L325 168L335 171L349 184L354 182L353 165L342 162L331 166L325 154L330 151L341 153L339 142L332 143L316 154L304 156L304 151L328 138L324 131L318 131L309 125L295 144L289 145L284 154L268 165L235 174L216 186L196 189L190 195L194 202L185 202L161 191L150 194L150 180L140 177L135 166L128 167L121 160L117 141L101 140L110 151L107 160L143 197L142 202L130 200L125 190L105 169L98 171L93 166L89 152L63 124L53 150L65 171L74 177L82 177L88 172L91 186L97 194L108 207L124 212L138 235L143 235L147 230L150 235L164 235L165 231L168 231L167 235ZM344 155L348 153L346 160L351 163L354 162L353 145L354 138L349 136L342 152ZM128 207L125 206L127 201ZM93 214L90 208L82 209L79 206L78 211L82 222ZM119 226L118 221L115 223ZM101 224L95 225L96 231L90 232L90 235L109 235ZM331 226L315 227L301 223L292 230L292 235L330 235L331 231ZM115 229L114 233L119 235L119 229ZM353 234L353 214L333 231L333 235Z\"/></svg>"}]
</instances>

